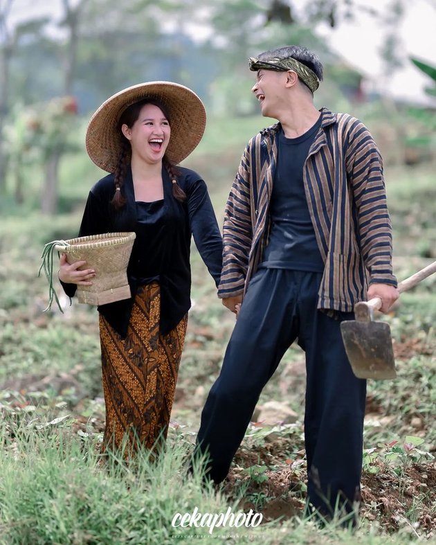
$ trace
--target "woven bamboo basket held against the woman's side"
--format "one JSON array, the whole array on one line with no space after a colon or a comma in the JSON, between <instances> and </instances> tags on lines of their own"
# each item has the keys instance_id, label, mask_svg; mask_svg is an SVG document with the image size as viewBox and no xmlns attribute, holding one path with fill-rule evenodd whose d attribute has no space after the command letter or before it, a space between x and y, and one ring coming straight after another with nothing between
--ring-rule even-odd
<instances>
[{"instance_id":1,"label":"woven bamboo basket held against the woman's side","mask_svg":"<svg viewBox=\"0 0 436 545\"><path fill-rule=\"evenodd\" d=\"M131 296L127 265L135 233L105 233L59 241L55 249L66 254L69 263L86 261L96 271L91 286L78 285L79 303L105 305Z\"/></svg>"}]
</instances>

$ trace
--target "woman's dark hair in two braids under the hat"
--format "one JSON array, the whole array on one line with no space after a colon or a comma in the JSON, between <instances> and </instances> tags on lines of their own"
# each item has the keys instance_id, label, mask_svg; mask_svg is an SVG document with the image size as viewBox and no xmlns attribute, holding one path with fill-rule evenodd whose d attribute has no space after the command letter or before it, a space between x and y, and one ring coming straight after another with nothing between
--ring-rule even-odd
<instances>
[{"instance_id":1,"label":"woman's dark hair in two braids under the hat","mask_svg":"<svg viewBox=\"0 0 436 545\"><path fill-rule=\"evenodd\" d=\"M122 112L120 120L118 121L118 129L120 131L121 138L122 138L122 149L121 149L120 157L118 159L116 170L114 172L115 194L113 195L113 199L111 200L112 206L114 206L116 209L124 206L127 201L125 195L123 195L122 193L122 186L124 184L127 167L129 166L129 163L131 160L130 143L125 138L125 136L122 135L121 127L124 124L126 124L127 127L132 127L135 121L138 119L140 110L146 104L152 104L154 106L157 106L159 109L161 109L165 118L167 118L168 122L170 123L170 118L168 116L167 110L165 109L165 107L162 105L161 102L154 99L145 98L143 100L139 100L138 102L135 102L134 104L127 107L125 111ZM179 186L179 183L178 183L178 176L180 174L179 170L177 170L176 166L171 163L171 161L166 157L166 155L163 156L163 166L167 170L167 173L170 176L170 179L172 181L172 195L174 199L177 199L179 202L184 202L187 199L187 197L186 197L186 193L183 191L183 189Z\"/></svg>"}]
</instances>

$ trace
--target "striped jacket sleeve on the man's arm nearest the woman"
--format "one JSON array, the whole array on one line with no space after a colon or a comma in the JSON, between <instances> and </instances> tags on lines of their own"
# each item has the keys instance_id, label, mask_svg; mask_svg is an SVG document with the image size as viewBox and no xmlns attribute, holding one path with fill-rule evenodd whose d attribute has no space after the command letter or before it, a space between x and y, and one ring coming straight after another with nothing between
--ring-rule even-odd
<instances>
[{"instance_id":1,"label":"striped jacket sleeve on the man's arm nearest the woman","mask_svg":"<svg viewBox=\"0 0 436 545\"><path fill-rule=\"evenodd\" d=\"M244 293L253 228L251 224L251 145L248 143L233 181L224 211L223 270L219 298Z\"/></svg>"}]
</instances>

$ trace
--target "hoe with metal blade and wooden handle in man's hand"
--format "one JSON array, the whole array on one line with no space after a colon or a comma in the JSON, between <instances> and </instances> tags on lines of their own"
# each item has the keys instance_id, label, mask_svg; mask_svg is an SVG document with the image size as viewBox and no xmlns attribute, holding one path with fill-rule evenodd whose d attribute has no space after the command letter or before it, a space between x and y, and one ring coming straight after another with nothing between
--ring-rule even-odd
<instances>
[{"instance_id":1,"label":"hoe with metal blade and wooden handle in man's hand","mask_svg":"<svg viewBox=\"0 0 436 545\"><path fill-rule=\"evenodd\" d=\"M400 293L416 286L436 272L436 261L409 276L398 285ZM354 305L355 320L340 323L345 352L354 375L359 379L394 379L394 349L388 323L374 321L374 310L381 307L381 299L361 301Z\"/></svg>"}]
</instances>

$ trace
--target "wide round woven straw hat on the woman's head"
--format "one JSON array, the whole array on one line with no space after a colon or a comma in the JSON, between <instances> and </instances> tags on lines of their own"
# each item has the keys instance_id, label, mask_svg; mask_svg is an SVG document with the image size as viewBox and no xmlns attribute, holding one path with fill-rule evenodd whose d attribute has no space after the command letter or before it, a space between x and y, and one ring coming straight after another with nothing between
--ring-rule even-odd
<instances>
[{"instance_id":1,"label":"wide round woven straw hat on the woman's head","mask_svg":"<svg viewBox=\"0 0 436 545\"><path fill-rule=\"evenodd\" d=\"M144 98L158 100L168 111L171 137L166 156L172 164L180 163L197 148L206 127L206 110L194 91L174 82L140 83L105 100L89 120L85 145L102 170L115 172L122 150L118 120L127 107Z\"/></svg>"}]
</instances>

